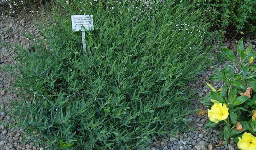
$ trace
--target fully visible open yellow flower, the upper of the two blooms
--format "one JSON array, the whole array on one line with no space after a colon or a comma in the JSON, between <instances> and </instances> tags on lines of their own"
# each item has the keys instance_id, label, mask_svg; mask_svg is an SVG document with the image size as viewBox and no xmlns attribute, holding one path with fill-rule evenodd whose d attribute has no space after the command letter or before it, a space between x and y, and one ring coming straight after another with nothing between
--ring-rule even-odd
<instances>
[{"instance_id":1,"label":"fully visible open yellow flower, the upper of the two blooms","mask_svg":"<svg viewBox=\"0 0 256 150\"><path fill-rule=\"evenodd\" d=\"M211 120L212 122L218 123L221 120L225 120L228 118L228 107L226 104L222 103L214 103L212 105L211 110L208 109L208 118L209 120Z\"/></svg>"}]
</instances>

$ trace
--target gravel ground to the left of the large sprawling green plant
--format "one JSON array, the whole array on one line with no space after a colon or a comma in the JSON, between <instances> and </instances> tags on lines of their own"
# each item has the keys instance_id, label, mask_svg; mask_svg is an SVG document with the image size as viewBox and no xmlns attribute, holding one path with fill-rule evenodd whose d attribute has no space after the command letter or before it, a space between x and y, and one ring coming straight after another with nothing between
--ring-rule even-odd
<instances>
[{"instance_id":1,"label":"gravel ground to the left of the large sprawling green plant","mask_svg":"<svg viewBox=\"0 0 256 150\"><path fill-rule=\"evenodd\" d=\"M44 13L37 13L35 18L42 21ZM31 15L25 17L11 17L0 15L0 41L5 44L21 45L22 47L29 47L31 40L24 35L25 32L29 34L34 34L33 40L36 40L36 37L39 36L39 32L36 29L36 21ZM15 65L16 60L14 58L14 51L3 47L0 45L0 66L6 64ZM12 84L15 78L9 73L0 72L0 106L1 109L9 108L9 100L15 100L19 97L16 93L12 93ZM3 102L6 104L6 108L3 105ZM4 123L13 122L10 114L4 114L1 112L0 121ZM21 132L23 129L12 128L10 129L7 125L0 124L0 149L1 150L39 150L42 149L39 145L33 143L22 143L23 137Z\"/></svg>"}]
</instances>

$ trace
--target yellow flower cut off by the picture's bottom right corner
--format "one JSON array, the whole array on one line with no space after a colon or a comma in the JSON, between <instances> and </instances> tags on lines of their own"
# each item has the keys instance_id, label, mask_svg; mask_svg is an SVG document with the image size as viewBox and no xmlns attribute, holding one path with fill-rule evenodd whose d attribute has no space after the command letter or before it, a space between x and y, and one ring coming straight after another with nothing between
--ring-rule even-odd
<instances>
[{"instance_id":1,"label":"yellow flower cut off by the picture's bottom right corner","mask_svg":"<svg viewBox=\"0 0 256 150\"><path fill-rule=\"evenodd\" d=\"M237 146L241 150L256 150L256 137L252 136L251 133L245 132L242 138L238 137L238 139Z\"/></svg>"}]
</instances>

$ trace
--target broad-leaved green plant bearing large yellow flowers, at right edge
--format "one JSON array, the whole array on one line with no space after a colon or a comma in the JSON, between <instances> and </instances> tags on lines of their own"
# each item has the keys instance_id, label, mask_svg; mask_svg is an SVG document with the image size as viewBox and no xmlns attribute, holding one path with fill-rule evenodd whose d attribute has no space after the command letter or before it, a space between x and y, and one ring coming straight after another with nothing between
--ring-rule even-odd
<instances>
[{"instance_id":1,"label":"broad-leaved green plant bearing large yellow flowers, at right edge","mask_svg":"<svg viewBox=\"0 0 256 150\"><path fill-rule=\"evenodd\" d=\"M243 38L240 39L237 45L238 59L231 49L222 49L223 56L233 66L226 64L221 71L214 67L216 73L209 80L223 81L224 85L217 91L207 83L212 91L202 99L205 105L212 105L208 109L209 120L204 128L222 127L219 137L224 137L226 143L230 137L235 138L234 142L238 142L241 150L253 149L251 144L256 146L251 141L252 135L256 135L256 65L253 64L256 52L251 52L251 48L252 45L244 50Z\"/></svg>"}]
</instances>

